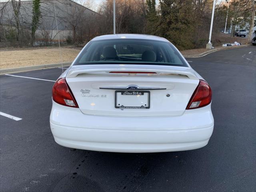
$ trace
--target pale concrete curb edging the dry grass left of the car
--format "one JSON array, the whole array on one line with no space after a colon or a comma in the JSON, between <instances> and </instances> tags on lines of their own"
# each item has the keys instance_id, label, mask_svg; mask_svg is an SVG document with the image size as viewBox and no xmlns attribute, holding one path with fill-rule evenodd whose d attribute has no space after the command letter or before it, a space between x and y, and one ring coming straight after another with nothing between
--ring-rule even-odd
<instances>
[{"instance_id":1,"label":"pale concrete curb edging the dry grass left of the car","mask_svg":"<svg viewBox=\"0 0 256 192\"><path fill-rule=\"evenodd\" d=\"M63 63L63 67L70 66L71 63L72 62ZM28 66L28 67L1 69L0 75L26 72L26 71L34 71L34 70L40 70L40 69L50 69L50 68L56 68L56 67L61 67L61 66L62 66L61 63L55 63L55 64L44 64L44 65L36 65L36 66Z\"/></svg>"}]
</instances>

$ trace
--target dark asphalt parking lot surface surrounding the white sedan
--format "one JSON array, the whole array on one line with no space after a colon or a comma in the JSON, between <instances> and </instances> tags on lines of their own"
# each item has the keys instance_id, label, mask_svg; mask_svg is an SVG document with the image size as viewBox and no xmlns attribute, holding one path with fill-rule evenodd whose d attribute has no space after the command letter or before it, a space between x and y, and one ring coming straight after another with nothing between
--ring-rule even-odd
<instances>
[{"instance_id":1,"label":"dark asphalt parking lot surface surrounding the white sedan","mask_svg":"<svg viewBox=\"0 0 256 192\"><path fill-rule=\"evenodd\" d=\"M49 116L62 70L13 74L31 79L0 76L0 112L22 118L0 115L0 191L256 191L256 46L187 60L212 88L215 124L207 146L182 152L59 146Z\"/></svg>"}]
</instances>

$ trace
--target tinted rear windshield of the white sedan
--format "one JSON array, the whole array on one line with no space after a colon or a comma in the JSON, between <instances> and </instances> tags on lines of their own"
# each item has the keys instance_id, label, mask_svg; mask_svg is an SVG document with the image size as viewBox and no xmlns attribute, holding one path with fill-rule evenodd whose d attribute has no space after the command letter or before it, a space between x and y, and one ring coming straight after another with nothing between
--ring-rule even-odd
<instances>
[{"instance_id":1,"label":"tinted rear windshield of the white sedan","mask_svg":"<svg viewBox=\"0 0 256 192\"><path fill-rule=\"evenodd\" d=\"M170 42L138 39L91 41L74 65L152 64L185 66L186 62Z\"/></svg>"}]
</instances>

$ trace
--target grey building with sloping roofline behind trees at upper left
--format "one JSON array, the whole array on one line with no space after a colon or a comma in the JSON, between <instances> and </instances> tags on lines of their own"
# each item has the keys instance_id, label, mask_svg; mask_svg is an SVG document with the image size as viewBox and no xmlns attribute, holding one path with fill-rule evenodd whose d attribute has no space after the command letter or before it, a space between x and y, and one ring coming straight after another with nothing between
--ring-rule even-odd
<instances>
[{"instance_id":1,"label":"grey building with sloping roofline behind trees at upper left","mask_svg":"<svg viewBox=\"0 0 256 192\"><path fill-rule=\"evenodd\" d=\"M90 26L96 16L99 15L72 0L41 0L41 17L38 29L36 30L36 40L38 41L35 43L54 43L58 39L54 3L61 41L67 39L76 41L79 36L82 38L81 36L88 31L88 26ZM11 28L17 25L12 3L10 1L1 2L0 9L2 10L0 14L0 24L2 28L10 32ZM22 28L24 36L29 36L31 33L32 16L32 0L21 1L19 20L20 28Z\"/></svg>"}]
</instances>

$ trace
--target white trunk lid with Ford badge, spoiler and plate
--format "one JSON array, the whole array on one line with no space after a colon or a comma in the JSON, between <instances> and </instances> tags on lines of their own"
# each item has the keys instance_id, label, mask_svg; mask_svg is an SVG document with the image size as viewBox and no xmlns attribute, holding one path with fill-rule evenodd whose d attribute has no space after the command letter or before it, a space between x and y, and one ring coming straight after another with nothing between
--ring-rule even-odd
<instances>
[{"instance_id":1,"label":"white trunk lid with Ford badge, spoiler and plate","mask_svg":"<svg viewBox=\"0 0 256 192\"><path fill-rule=\"evenodd\" d=\"M72 66L66 82L84 114L178 116L184 113L199 79L187 67L83 65ZM138 107L129 108L133 105Z\"/></svg>"}]
</instances>

